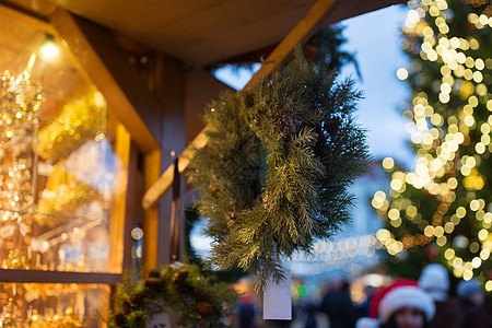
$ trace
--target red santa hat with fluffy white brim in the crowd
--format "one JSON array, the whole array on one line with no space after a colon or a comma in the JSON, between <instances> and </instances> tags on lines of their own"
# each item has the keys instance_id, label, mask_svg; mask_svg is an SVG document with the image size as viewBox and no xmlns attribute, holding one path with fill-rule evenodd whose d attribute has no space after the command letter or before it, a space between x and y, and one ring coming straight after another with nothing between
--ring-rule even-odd
<instances>
[{"instance_id":1,"label":"red santa hat with fluffy white brim in the crowd","mask_svg":"<svg viewBox=\"0 0 492 328\"><path fill-rule=\"evenodd\" d=\"M435 305L431 296L418 285L417 281L399 279L374 295L370 304L371 318L361 320L358 327L377 327L377 323L386 323L403 306L422 311L427 321L434 317Z\"/></svg>"}]
</instances>

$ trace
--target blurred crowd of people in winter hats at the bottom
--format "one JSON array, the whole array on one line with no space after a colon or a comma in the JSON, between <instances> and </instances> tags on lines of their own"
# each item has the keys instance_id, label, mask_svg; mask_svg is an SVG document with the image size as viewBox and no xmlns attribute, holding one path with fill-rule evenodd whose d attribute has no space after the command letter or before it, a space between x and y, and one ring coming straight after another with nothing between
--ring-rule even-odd
<instances>
[{"instance_id":1,"label":"blurred crowd of people in winter hats at the bottom","mask_svg":"<svg viewBox=\"0 0 492 328\"><path fill-rule=\"evenodd\" d=\"M394 279L383 286L364 286L354 302L350 283L335 279L317 300L306 297L293 307L293 320L262 320L250 295L241 298L239 328L492 328L492 308L477 280L462 280L450 292L447 270L426 266L419 280Z\"/></svg>"}]
</instances>

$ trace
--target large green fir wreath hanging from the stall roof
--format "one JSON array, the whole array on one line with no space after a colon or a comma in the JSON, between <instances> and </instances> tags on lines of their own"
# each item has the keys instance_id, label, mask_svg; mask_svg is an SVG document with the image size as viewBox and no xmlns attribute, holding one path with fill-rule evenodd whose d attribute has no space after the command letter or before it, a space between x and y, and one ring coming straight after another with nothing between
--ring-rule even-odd
<instances>
[{"instance_id":1,"label":"large green fir wreath hanging from the stall roof","mask_svg":"<svg viewBox=\"0 0 492 328\"><path fill-rule=\"evenodd\" d=\"M209 143L188 171L209 218L211 265L242 268L258 289L283 278L282 257L311 251L349 221L347 187L370 162L353 117L361 93L301 57L208 106Z\"/></svg>"}]
</instances>

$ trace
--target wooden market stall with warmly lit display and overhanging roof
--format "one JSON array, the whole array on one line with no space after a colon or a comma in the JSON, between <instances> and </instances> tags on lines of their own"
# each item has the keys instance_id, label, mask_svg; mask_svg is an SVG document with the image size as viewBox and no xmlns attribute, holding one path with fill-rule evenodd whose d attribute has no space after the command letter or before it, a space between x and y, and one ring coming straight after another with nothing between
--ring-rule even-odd
<instances>
[{"instance_id":1,"label":"wooden market stall with warmly lit display and overhanging roof","mask_svg":"<svg viewBox=\"0 0 492 328\"><path fill-rule=\"evenodd\" d=\"M3 318L97 326L126 268L168 261L171 153L184 172L207 143L199 114L227 89L211 68L268 75L317 28L400 2L2 1Z\"/></svg>"}]
</instances>

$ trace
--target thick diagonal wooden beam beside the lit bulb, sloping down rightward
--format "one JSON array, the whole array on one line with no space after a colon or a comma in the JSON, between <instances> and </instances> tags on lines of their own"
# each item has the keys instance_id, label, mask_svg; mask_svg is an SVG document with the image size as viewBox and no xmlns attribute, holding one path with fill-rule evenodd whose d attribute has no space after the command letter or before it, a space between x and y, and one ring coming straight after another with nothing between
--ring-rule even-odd
<instances>
[{"instance_id":1,"label":"thick diagonal wooden beam beside the lit bulb, sloping down rightward","mask_svg":"<svg viewBox=\"0 0 492 328\"><path fill-rule=\"evenodd\" d=\"M161 112L161 106L129 63L112 32L62 9L51 15L50 23L67 43L79 69L103 93L139 149L148 153L159 148L155 136L159 136L160 127L153 117Z\"/></svg>"}]
</instances>

